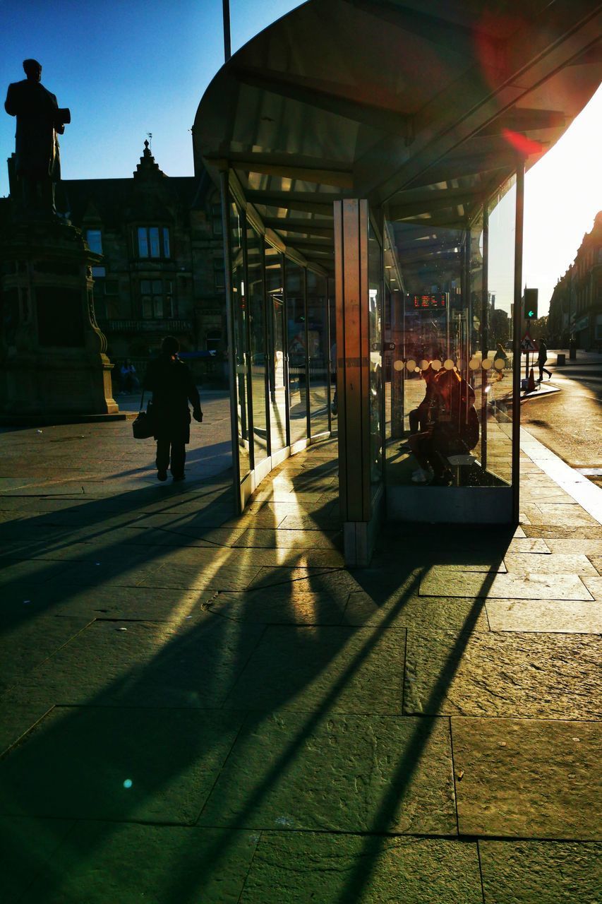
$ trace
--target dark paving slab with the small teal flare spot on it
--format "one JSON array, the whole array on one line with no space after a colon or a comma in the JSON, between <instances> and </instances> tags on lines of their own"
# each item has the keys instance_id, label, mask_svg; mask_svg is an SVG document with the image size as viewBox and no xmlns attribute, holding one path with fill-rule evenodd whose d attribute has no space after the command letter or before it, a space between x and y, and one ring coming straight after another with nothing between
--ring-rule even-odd
<instances>
[{"instance_id":1,"label":"dark paving slab with the small teal flare spot on it","mask_svg":"<svg viewBox=\"0 0 602 904\"><path fill-rule=\"evenodd\" d=\"M241 719L55 707L0 761L0 815L193 824Z\"/></svg>"}]
</instances>

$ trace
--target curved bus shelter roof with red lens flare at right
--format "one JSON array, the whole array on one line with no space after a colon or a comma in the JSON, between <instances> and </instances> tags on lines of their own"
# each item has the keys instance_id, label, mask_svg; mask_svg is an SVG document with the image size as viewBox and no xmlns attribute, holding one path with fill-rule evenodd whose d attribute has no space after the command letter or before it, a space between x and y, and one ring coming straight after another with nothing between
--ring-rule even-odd
<instances>
[{"instance_id":1,"label":"curved bus shelter roof with red lens flare at right","mask_svg":"<svg viewBox=\"0 0 602 904\"><path fill-rule=\"evenodd\" d=\"M338 198L460 226L597 89L601 26L593 0L309 0L212 80L195 162L327 269Z\"/></svg>"}]
</instances>

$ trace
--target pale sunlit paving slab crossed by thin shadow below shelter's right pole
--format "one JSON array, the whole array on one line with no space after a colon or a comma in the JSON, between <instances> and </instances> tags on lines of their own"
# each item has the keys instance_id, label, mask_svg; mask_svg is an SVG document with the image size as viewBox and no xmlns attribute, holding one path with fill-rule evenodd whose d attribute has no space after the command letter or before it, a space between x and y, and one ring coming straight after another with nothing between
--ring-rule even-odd
<instances>
[{"instance_id":1,"label":"pale sunlit paving slab crossed by thin shadow below shelter's right pole","mask_svg":"<svg viewBox=\"0 0 602 904\"><path fill-rule=\"evenodd\" d=\"M538 560L543 557L538 557ZM458 573L437 565L420 581L421 597L484 597L500 599L591 599L584 582L573 574Z\"/></svg>"}]
</instances>

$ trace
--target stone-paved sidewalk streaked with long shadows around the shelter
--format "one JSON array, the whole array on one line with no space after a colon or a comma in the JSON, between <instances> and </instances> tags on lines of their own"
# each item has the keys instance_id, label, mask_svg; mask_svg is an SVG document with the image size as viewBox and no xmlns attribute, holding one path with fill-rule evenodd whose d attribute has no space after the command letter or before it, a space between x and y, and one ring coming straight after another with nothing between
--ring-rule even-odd
<instances>
[{"instance_id":1,"label":"stone-paved sidewalk streaked with long shadows around the shelter","mask_svg":"<svg viewBox=\"0 0 602 904\"><path fill-rule=\"evenodd\" d=\"M602 524L531 439L516 532L352 573L334 440L234 518L219 449L4 432L3 904L600 900Z\"/></svg>"}]
</instances>

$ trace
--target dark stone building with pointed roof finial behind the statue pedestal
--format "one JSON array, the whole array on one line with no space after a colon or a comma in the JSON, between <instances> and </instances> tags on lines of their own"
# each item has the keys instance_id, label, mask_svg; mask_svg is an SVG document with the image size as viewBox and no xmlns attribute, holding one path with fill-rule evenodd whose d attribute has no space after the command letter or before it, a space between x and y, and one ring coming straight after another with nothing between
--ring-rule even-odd
<instances>
[{"instance_id":1,"label":"dark stone building with pointed roof finial behind the statue pedestal","mask_svg":"<svg viewBox=\"0 0 602 904\"><path fill-rule=\"evenodd\" d=\"M173 334L183 352L212 353L204 371L220 379L221 208L207 174L167 176L145 141L133 178L63 180L57 208L103 256L93 268L94 304L109 357L144 367Z\"/></svg>"}]
</instances>

